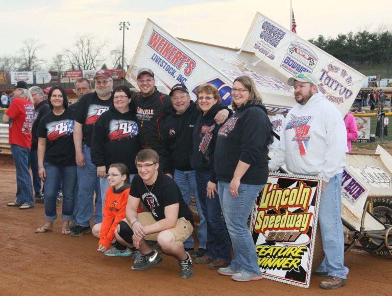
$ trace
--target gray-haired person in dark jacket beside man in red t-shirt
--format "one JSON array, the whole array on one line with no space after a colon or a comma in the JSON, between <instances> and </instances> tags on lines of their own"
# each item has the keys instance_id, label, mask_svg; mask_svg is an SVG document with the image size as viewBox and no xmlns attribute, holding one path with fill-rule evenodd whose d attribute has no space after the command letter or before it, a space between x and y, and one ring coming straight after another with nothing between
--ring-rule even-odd
<instances>
[{"instance_id":1,"label":"gray-haired person in dark jacket beside man in red t-shirt","mask_svg":"<svg viewBox=\"0 0 392 296\"><path fill-rule=\"evenodd\" d=\"M43 196L41 194L41 179L38 175L38 125L41 118L51 112L51 108L47 100L44 100L43 91L38 86L32 86L29 88L30 94L34 101L34 122L32 129L32 141L31 141L31 151L29 155L29 163L31 166L31 172L33 174L33 188L34 188L34 198L35 202L38 204L43 204Z\"/></svg>"}]
</instances>

